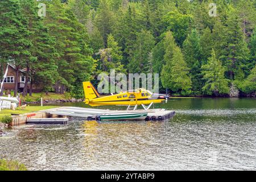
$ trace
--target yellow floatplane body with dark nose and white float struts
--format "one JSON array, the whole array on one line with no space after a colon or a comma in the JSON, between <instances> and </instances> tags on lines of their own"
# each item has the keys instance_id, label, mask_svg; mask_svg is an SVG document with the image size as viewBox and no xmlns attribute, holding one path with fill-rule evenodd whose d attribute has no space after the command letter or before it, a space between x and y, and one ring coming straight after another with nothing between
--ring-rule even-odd
<instances>
[{"instance_id":1,"label":"yellow floatplane body with dark nose and white float struts","mask_svg":"<svg viewBox=\"0 0 256 182\"><path fill-rule=\"evenodd\" d=\"M85 93L85 104L90 106L126 105L128 106L127 110L132 109L131 106L133 106L133 110L136 110L137 106L142 105L145 110L148 110L152 104L161 103L169 98L164 94L151 93L146 89L128 90L110 96L100 96L89 81L82 84Z\"/></svg>"}]
</instances>

